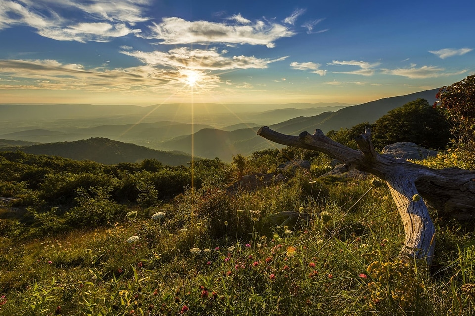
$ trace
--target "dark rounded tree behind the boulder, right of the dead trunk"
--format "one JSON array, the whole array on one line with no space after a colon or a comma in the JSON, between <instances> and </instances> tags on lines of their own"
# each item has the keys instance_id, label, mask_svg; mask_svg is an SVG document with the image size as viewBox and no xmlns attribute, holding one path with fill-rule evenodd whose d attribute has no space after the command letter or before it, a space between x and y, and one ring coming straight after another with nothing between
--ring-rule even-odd
<instances>
[{"instance_id":1,"label":"dark rounded tree behind the boulder, right of the dead trunk","mask_svg":"<svg viewBox=\"0 0 475 316\"><path fill-rule=\"evenodd\" d=\"M425 148L444 149L450 139L450 125L440 109L417 99L391 110L372 126L375 147L395 142L413 142Z\"/></svg>"}]
</instances>

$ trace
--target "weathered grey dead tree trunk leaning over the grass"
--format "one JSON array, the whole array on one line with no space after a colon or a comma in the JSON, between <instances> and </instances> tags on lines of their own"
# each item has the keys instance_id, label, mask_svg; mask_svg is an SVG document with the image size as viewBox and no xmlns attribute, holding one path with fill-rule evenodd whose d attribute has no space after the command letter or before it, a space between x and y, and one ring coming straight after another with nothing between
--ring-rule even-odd
<instances>
[{"instance_id":1,"label":"weathered grey dead tree trunk leaning over the grass","mask_svg":"<svg viewBox=\"0 0 475 316\"><path fill-rule=\"evenodd\" d=\"M425 203L442 216L459 220L475 218L474 171L459 168L435 170L380 155L371 143L369 129L355 137L360 151L333 141L319 129L313 135L302 132L299 136L290 136L264 126L257 135L282 145L323 152L345 163L340 169L342 172L355 168L384 179L404 225L403 255L423 259L427 264L432 262L435 227Z\"/></svg>"}]
</instances>

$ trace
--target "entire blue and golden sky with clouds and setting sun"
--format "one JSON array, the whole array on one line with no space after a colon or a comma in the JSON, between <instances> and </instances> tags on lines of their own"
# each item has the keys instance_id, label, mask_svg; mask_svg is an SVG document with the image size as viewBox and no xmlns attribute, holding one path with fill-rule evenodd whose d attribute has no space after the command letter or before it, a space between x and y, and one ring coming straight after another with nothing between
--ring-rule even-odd
<instances>
[{"instance_id":1,"label":"entire blue and golden sky with clouds and setting sun","mask_svg":"<svg viewBox=\"0 0 475 316\"><path fill-rule=\"evenodd\" d=\"M361 104L474 74L474 12L474 0L0 0L0 103Z\"/></svg>"}]
</instances>

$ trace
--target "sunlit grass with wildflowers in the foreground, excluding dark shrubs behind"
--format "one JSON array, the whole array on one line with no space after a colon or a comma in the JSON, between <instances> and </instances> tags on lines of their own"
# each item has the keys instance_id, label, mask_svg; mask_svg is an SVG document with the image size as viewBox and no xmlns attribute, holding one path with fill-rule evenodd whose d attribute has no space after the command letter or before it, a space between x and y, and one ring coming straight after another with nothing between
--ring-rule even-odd
<instances>
[{"instance_id":1,"label":"sunlit grass with wildflowers in the foreground, excluding dark shrubs behind","mask_svg":"<svg viewBox=\"0 0 475 316\"><path fill-rule=\"evenodd\" d=\"M472 228L435 217L434 266L401 261L385 186L314 181L188 190L107 228L3 237L0 315L475 314ZM284 211L310 220L265 222Z\"/></svg>"}]
</instances>

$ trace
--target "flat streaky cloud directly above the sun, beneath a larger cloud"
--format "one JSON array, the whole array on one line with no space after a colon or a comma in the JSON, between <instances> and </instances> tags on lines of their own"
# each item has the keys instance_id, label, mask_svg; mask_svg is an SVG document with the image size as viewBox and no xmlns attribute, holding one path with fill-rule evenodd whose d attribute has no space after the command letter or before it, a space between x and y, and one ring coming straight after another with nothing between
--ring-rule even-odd
<instances>
[{"instance_id":1,"label":"flat streaky cloud directly above the sun, beneath a larger cloud","mask_svg":"<svg viewBox=\"0 0 475 316\"><path fill-rule=\"evenodd\" d=\"M136 57L147 65L200 70L264 69L270 63L288 58L288 56L277 59L260 59L254 56L226 57L223 52L218 52L216 48L190 50L183 47L172 49L168 52L121 52L125 55Z\"/></svg>"}]
</instances>

